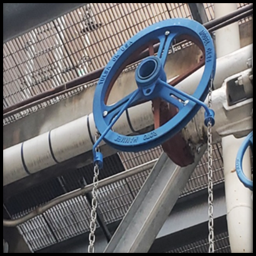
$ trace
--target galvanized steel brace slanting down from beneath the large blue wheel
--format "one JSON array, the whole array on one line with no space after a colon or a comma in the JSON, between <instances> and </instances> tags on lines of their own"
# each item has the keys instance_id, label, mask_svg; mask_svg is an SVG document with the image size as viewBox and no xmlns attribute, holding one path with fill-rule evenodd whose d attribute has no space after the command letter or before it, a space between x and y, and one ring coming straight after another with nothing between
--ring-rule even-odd
<instances>
[{"instance_id":1,"label":"galvanized steel brace slanting down from beneath the large blue wheel","mask_svg":"<svg viewBox=\"0 0 256 256\"><path fill-rule=\"evenodd\" d=\"M145 253L164 225L206 146L195 161L179 167L163 153L106 247L105 253Z\"/></svg>"}]
</instances>

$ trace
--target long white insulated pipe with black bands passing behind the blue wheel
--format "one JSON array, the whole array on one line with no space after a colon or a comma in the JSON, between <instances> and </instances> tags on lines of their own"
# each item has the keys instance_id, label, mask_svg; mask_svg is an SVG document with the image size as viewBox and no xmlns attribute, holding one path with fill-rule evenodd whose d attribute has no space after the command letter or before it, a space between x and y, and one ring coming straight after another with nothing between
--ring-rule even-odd
<instances>
[{"instance_id":1,"label":"long white insulated pipe with black bands passing behind the blue wheel","mask_svg":"<svg viewBox=\"0 0 256 256\"><path fill-rule=\"evenodd\" d=\"M252 45L217 59L215 88L220 87L227 76L246 69L251 53ZM189 94L194 92L202 70L199 69L184 79L177 85L177 88ZM130 108L129 116L134 130L141 130L154 124L151 102ZM121 116L114 129L119 134L132 133L126 115ZM93 116L89 114L89 116L81 117L26 142L4 149L3 185L11 184L34 172L90 151L95 133Z\"/></svg>"}]
</instances>

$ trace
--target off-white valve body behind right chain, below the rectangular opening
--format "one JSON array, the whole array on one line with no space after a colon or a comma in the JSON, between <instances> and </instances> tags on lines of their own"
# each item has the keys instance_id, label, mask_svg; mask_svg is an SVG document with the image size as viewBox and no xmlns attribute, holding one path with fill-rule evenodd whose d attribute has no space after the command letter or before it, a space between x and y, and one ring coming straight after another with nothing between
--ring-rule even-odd
<instances>
[{"instance_id":1,"label":"off-white valve body behind right chain, below the rectangular opening","mask_svg":"<svg viewBox=\"0 0 256 256\"><path fill-rule=\"evenodd\" d=\"M244 137L252 130L253 99L246 99L234 106L228 106L226 83L212 92L212 109L215 112L215 125L212 127L212 140L219 142L227 135ZM208 104L208 99L205 100ZM204 125L204 109L201 107L192 121L182 129L182 136L194 145L205 142L207 127Z\"/></svg>"}]
</instances>

